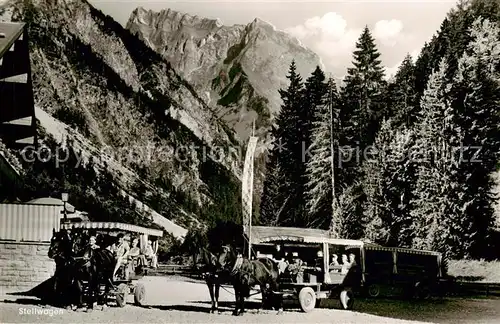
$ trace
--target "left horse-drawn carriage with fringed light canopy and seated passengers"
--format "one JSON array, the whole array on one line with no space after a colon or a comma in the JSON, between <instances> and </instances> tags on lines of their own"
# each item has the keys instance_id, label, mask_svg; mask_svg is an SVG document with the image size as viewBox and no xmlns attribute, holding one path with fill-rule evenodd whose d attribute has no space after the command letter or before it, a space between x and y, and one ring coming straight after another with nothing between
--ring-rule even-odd
<instances>
[{"instance_id":1,"label":"left horse-drawn carriage with fringed light canopy and seated passengers","mask_svg":"<svg viewBox=\"0 0 500 324\"><path fill-rule=\"evenodd\" d=\"M125 234L124 239L129 241L134 241L132 237L136 236L135 241L139 246L136 246L135 248L139 251L143 251L146 245L151 243L150 248L152 248L154 255L158 249L158 238L163 236L163 231L161 230L116 222L63 223L61 224L61 229L78 233L83 231L93 232L95 233L94 235L100 235L101 237L105 236L108 238L116 237L119 233L122 233ZM111 242L108 244L111 244ZM102 248L104 247L105 246ZM134 295L134 302L136 305L142 305L144 302L146 287L143 283L138 282L138 280L147 274L147 269L151 265L156 266L156 259L152 258L151 262L153 264L144 264L144 262L139 262L139 260L140 258L137 256L126 257L122 262L120 262L120 266L116 272L116 277L112 280L111 284L113 288L109 291L109 295L115 297L116 303L120 307L124 307L126 305L127 297L130 293ZM83 281L82 284L83 293L89 293L89 282ZM106 289L106 285L107 282L101 282L99 284L99 293Z\"/></svg>"}]
</instances>

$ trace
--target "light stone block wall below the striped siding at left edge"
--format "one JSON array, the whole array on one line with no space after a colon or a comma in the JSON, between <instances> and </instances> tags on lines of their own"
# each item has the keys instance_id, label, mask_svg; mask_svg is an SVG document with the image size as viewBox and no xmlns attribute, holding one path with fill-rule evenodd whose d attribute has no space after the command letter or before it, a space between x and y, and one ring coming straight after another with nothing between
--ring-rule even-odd
<instances>
[{"instance_id":1,"label":"light stone block wall below the striped siding at left edge","mask_svg":"<svg viewBox=\"0 0 500 324\"><path fill-rule=\"evenodd\" d=\"M52 277L49 243L0 241L0 294L28 291Z\"/></svg>"}]
</instances>

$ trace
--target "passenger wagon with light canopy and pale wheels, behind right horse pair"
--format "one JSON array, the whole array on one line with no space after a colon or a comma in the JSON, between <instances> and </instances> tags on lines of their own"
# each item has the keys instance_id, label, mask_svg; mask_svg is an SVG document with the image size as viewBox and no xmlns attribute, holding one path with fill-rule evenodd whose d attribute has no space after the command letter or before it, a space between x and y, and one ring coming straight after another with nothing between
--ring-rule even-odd
<instances>
[{"instance_id":1,"label":"passenger wagon with light canopy and pale wheels, behind right horse pair","mask_svg":"<svg viewBox=\"0 0 500 324\"><path fill-rule=\"evenodd\" d=\"M340 298L344 309L352 308L353 289L359 285L361 275L353 262L359 263L359 259L342 268L332 265L330 256L344 255L347 248L362 246L362 241L333 239L317 229L252 228L252 250L257 259L271 258L283 264L280 289L275 293L285 300L298 300L304 312L312 311L321 299L327 298Z\"/></svg>"}]
</instances>

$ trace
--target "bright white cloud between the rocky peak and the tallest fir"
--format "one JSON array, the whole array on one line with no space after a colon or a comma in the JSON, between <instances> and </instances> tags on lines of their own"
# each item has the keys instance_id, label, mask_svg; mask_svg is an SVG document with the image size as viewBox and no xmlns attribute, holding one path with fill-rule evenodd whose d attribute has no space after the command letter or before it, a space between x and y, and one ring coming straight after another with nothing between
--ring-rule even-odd
<instances>
[{"instance_id":1,"label":"bright white cloud between the rocky peak and the tallest fir","mask_svg":"<svg viewBox=\"0 0 500 324\"><path fill-rule=\"evenodd\" d=\"M348 28L347 21L336 12L315 16L303 24L285 29L304 45L318 53L327 69L342 73L350 64L361 28ZM337 73L336 73L337 74Z\"/></svg>"}]
</instances>

